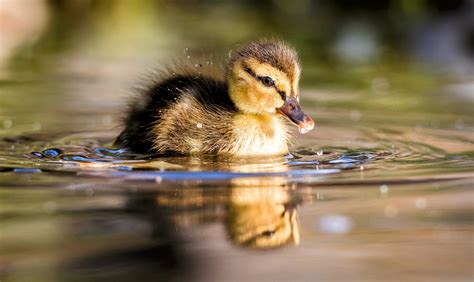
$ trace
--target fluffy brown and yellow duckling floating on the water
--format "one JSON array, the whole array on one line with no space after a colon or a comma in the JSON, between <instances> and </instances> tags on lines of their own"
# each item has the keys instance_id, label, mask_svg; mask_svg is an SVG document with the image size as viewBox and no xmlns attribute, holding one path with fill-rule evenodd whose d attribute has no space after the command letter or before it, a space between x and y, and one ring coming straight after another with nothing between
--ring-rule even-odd
<instances>
[{"instance_id":1,"label":"fluffy brown and yellow duckling floating on the water","mask_svg":"<svg viewBox=\"0 0 474 282\"><path fill-rule=\"evenodd\" d=\"M174 70L142 91L116 140L137 153L285 155L289 130L314 127L299 105L294 49L252 42L230 53L225 78Z\"/></svg>"}]
</instances>

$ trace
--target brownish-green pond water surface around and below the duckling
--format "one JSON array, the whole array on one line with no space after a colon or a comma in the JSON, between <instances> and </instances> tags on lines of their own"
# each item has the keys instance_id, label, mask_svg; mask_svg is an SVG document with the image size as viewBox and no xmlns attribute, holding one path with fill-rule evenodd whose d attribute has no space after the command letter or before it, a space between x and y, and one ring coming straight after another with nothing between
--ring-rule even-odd
<instances>
[{"instance_id":1,"label":"brownish-green pond water surface around and below the duckling","mask_svg":"<svg viewBox=\"0 0 474 282\"><path fill-rule=\"evenodd\" d=\"M1 281L473 278L472 81L308 59L290 155L153 157L111 144L154 53L93 46L1 68Z\"/></svg>"}]
</instances>

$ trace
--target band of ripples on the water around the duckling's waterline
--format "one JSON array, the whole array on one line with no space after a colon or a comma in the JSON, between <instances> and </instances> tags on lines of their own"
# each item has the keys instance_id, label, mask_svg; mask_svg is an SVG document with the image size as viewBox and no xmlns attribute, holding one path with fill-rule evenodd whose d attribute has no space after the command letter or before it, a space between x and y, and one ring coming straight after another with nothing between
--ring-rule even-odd
<instances>
[{"instance_id":1,"label":"band of ripples on the water around the duckling's waterline","mask_svg":"<svg viewBox=\"0 0 474 282\"><path fill-rule=\"evenodd\" d=\"M376 139L377 136L371 135L368 138L375 140L369 143L370 146L361 142L348 147L308 146L293 150L283 158L235 161L205 156L134 154L127 149L110 148L107 146L110 140L91 134L73 134L57 138L54 143L23 136L1 141L0 158L4 160L2 168L6 169L2 171L31 168L42 172L87 172L87 175L94 175L97 170L103 176L105 170L110 172L107 174L110 177L126 174L134 175L136 179L200 178L203 181L262 176L288 179L305 176L309 177L307 181L320 181L311 177L336 174L339 175L337 179L355 183L370 178L405 178L420 172L426 177L463 173L474 165L472 156L448 154L432 144L406 139ZM358 144L364 146L357 147ZM25 152L29 148L36 150Z\"/></svg>"}]
</instances>

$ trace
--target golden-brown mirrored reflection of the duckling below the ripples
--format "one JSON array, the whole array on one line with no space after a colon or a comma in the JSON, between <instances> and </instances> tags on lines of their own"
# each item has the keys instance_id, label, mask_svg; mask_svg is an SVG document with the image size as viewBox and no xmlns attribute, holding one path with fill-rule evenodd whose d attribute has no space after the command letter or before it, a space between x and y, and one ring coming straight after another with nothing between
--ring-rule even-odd
<instances>
[{"instance_id":1,"label":"golden-brown mirrored reflection of the duckling below the ripples","mask_svg":"<svg viewBox=\"0 0 474 282\"><path fill-rule=\"evenodd\" d=\"M229 187L222 192L225 195L209 189L162 191L156 204L174 211L170 220L177 230L225 218L229 237L237 245L274 249L299 244L298 202L287 187Z\"/></svg>"}]
</instances>

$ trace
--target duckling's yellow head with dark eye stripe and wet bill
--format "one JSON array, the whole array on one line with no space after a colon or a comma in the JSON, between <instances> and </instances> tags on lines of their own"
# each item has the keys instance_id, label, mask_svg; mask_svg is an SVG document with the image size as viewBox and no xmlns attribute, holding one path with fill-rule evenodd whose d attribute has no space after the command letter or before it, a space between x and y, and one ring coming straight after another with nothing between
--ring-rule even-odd
<instances>
[{"instance_id":1,"label":"duckling's yellow head with dark eye stripe and wet bill","mask_svg":"<svg viewBox=\"0 0 474 282\"><path fill-rule=\"evenodd\" d=\"M248 114L280 113L301 130L314 122L299 105L301 68L296 52L278 41L259 41L232 52L227 68L229 94Z\"/></svg>"}]
</instances>

